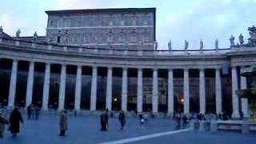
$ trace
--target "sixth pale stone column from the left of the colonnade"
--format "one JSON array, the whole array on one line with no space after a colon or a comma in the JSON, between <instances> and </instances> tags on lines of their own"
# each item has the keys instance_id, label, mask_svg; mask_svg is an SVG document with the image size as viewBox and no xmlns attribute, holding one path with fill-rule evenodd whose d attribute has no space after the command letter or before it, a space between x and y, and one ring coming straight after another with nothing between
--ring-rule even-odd
<instances>
[{"instance_id":1,"label":"sixth pale stone column from the left of the colonnade","mask_svg":"<svg viewBox=\"0 0 256 144\"><path fill-rule=\"evenodd\" d=\"M93 66L93 74L91 80L90 90L90 110L96 110L96 98L97 98L97 66Z\"/></svg>"}]
</instances>

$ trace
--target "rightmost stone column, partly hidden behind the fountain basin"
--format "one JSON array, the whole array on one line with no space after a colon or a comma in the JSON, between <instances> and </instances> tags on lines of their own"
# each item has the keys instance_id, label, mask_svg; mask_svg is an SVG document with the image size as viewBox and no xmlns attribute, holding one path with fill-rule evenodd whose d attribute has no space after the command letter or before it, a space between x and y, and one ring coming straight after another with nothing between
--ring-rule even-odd
<instances>
[{"instance_id":1,"label":"rightmost stone column, partly hidden behind the fountain basin","mask_svg":"<svg viewBox=\"0 0 256 144\"><path fill-rule=\"evenodd\" d=\"M240 69L241 73L242 73L242 67ZM241 74L240 73L240 74ZM247 81L246 81L246 77L242 77L242 75L240 76L240 82L241 82L241 89L244 90L244 89L247 89ZM249 117L249 106L248 106L248 99L247 98L242 98L241 99L241 102L242 102L242 113L244 114L244 117L245 118L248 118Z\"/></svg>"}]
</instances>

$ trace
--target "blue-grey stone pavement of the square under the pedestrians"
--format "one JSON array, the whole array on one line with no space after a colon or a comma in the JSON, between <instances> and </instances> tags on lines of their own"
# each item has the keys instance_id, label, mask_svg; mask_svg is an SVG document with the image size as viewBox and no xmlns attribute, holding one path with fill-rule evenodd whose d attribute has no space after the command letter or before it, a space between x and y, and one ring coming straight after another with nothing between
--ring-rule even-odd
<instances>
[{"instance_id":1,"label":"blue-grey stone pavement of the square under the pedestrians","mask_svg":"<svg viewBox=\"0 0 256 144\"><path fill-rule=\"evenodd\" d=\"M24 117L25 119L25 117ZM6 131L0 144L94 144L114 142L126 138L134 138L148 134L156 134L174 130L174 122L166 118L150 119L146 126L139 126L137 118L127 118L125 130L119 130L117 118L110 118L110 129L101 132L98 116L83 116L68 118L69 128L64 138L58 137L58 116L43 115L37 121L25 121L18 138L11 138ZM131 143L255 143L256 134L210 133L188 131L178 134L151 138Z\"/></svg>"}]
</instances>

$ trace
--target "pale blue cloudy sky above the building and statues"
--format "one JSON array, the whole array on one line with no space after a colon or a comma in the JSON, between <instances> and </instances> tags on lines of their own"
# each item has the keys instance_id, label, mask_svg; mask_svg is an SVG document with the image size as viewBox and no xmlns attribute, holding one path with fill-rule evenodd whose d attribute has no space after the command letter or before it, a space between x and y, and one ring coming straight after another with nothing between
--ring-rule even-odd
<instances>
[{"instance_id":1,"label":"pale blue cloudy sky above the building and statues","mask_svg":"<svg viewBox=\"0 0 256 144\"><path fill-rule=\"evenodd\" d=\"M235 42L247 28L256 25L256 0L5 0L0 2L0 26L10 35L18 29L22 36L46 34L46 10L94 8L156 7L156 36L158 49L167 49L171 39L173 49L199 49L200 39L205 49L230 47L230 35Z\"/></svg>"}]
</instances>

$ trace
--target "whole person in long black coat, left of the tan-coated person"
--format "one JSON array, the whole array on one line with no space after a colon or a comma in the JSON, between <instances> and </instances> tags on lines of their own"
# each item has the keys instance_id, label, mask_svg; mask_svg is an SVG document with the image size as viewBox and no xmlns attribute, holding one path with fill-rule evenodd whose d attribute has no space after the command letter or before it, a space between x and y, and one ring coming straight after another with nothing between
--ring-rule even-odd
<instances>
[{"instance_id":1,"label":"whole person in long black coat, left of the tan-coated person","mask_svg":"<svg viewBox=\"0 0 256 144\"><path fill-rule=\"evenodd\" d=\"M19 125L20 122L23 123L22 114L18 110L17 107L14 108L14 110L10 114L10 133L13 134L13 137L16 137L19 133Z\"/></svg>"}]
</instances>

